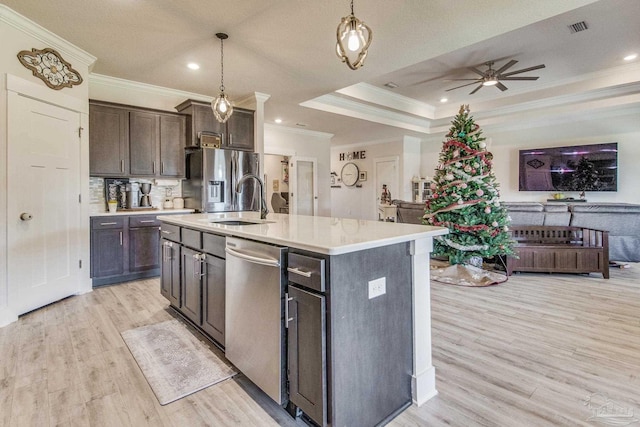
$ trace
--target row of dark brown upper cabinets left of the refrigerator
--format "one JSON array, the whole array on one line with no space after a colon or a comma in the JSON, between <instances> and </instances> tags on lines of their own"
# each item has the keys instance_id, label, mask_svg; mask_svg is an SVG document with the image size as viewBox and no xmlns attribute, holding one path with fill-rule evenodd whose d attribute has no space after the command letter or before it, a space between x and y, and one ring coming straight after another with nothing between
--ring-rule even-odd
<instances>
[{"instance_id":1,"label":"row of dark brown upper cabinets left of the refrigerator","mask_svg":"<svg viewBox=\"0 0 640 427\"><path fill-rule=\"evenodd\" d=\"M91 101L90 175L184 177L186 117Z\"/></svg>"}]
</instances>

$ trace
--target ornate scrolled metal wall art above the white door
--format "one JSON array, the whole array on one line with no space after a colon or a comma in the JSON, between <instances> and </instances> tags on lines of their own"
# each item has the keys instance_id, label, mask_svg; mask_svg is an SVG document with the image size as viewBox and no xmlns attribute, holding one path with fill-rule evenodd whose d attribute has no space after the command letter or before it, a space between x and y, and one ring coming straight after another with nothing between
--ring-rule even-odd
<instances>
[{"instance_id":1,"label":"ornate scrolled metal wall art above the white door","mask_svg":"<svg viewBox=\"0 0 640 427\"><path fill-rule=\"evenodd\" d=\"M73 87L82 83L80 73L62 59L54 49L23 50L18 53L18 59L22 65L31 70L35 77L40 78L51 89L60 90L63 87Z\"/></svg>"}]
</instances>

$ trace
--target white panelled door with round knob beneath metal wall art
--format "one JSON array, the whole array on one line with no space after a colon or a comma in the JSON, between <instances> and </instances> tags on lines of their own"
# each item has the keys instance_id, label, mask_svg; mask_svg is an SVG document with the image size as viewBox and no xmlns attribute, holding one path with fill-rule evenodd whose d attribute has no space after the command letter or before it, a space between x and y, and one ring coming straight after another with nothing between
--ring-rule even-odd
<instances>
[{"instance_id":1,"label":"white panelled door with round knob beneath metal wall art","mask_svg":"<svg viewBox=\"0 0 640 427\"><path fill-rule=\"evenodd\" d=\"M7 96L8 278L22 314L78 290L80 114Z\"/></svg>"}]
</instances>

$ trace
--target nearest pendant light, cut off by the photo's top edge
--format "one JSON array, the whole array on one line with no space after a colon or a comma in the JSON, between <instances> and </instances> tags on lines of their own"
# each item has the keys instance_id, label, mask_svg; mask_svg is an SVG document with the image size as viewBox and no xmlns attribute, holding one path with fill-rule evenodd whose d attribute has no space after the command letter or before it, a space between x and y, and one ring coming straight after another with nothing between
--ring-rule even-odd
<instances>
[{"instance_id":1,"label":"nearest pendant light, cut off by the photo's top edge","mask_svg":"<svg viewBox=\"0 0 640 427\"><path fill-rule=\"evenodd\" d=\"M351 15L342 18L338 24L336 35L338 38L336 43L338 58L352 70L362 67L367 57L367 50L371 45L372 33L371 28L353 14L353 0L351 0ZM353 57L353 61L349 55Z\"/></svg>"}]
</instances>

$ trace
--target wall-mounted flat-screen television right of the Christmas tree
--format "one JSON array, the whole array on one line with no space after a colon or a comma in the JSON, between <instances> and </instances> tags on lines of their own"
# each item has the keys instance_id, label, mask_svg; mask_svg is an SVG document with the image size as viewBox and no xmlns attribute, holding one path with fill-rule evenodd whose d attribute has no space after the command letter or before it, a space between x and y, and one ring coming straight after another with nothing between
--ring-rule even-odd
<instances>
[{"instance_id":1,"label":"wall-mounted flat-screen television right of the Christmas tree","mask_svg":"<svg viewBox=\"0 0 640 427\"><path fill-rule=\"evenodd\" d=\"M520 150L520 191L618 191L618 143Z\"/></svg>"}]
</instances>

